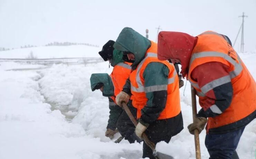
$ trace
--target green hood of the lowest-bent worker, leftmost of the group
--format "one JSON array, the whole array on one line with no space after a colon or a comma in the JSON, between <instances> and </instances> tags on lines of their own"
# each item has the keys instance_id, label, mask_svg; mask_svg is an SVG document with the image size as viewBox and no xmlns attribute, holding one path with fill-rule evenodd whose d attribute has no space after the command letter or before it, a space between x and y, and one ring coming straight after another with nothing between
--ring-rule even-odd
<instances>
[{"instance_id":1,"label":"green hood of the lowest-bent worker, leftmost of the group","mask_svg":"<svg viewBox=\"0 0 256 159\"><path fill-rule=\"evenodd\" d=\"M91 81L91 89L94 91L95 86L98 83L103 83L104 88L102 95L104 97L114 96L114 85L111 77L107 73L93 73L90 78Z\"/></svg>"}]
</instances>

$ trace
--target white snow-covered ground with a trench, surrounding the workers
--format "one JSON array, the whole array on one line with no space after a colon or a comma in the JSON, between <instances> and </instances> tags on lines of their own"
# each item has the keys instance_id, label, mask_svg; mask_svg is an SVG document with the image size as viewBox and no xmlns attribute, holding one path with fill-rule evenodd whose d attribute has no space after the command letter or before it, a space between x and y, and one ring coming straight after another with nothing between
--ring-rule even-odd
<instances>
[{"instance_id":1,"label":"white snow-covered ground with a trench, surrounding the workers","mask_svg":"<svg viewBox=\"0 0 256 159\"><path fill-rule=\"evenodd\" d=\"M240 54L240 57L255 79L256 54ZM41 65L24 67L10 61L0 64L0 159L141 158L141 144L126 140L114 143L120 134L113 141L105 137L108 100L100 91L91 91L89 78L91 73L110 73L108 62L62 63L19 71L6 70ZM168 144L158 143L157 150L175 159L195 159L194 138L187 130L192 122L189 82L186 88L180 89L180 95L184 130ZM205 133L203 130L200 134L202 159L209 158L204 145ZM240 159L255 159L255 149L256 120L246 127L237 152Z\"/></svg>"}]
</instances>

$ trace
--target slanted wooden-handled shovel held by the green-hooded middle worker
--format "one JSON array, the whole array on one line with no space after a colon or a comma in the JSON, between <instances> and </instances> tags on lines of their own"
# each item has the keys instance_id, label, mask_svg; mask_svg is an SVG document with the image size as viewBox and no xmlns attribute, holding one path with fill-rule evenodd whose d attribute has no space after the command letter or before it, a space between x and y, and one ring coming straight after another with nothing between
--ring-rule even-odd
<instances>
[{"instance_id":1,"label":"slanted wooden-handled shovel held by the green-hooded middle worker","mask_svg":"<svg viewBox=\"0 0 256 159\"><path fill-rule=\"evenodd\" d=\"M122 106L123 106L125 112L127 113L127 115L129 116L129 118L131 119L131 121L133 122L134 126L136 127L138 123L137 123L136 119L133 117L130 109L127 107L127 105L124 102L122 102ZM172 156L166 155L161 152L157 152L155 150L155 144L148 139L148 137L146 136L145 133L142 133L141 137L144 140L144 142L146 143L146 145L148 145L152 149L153 156L155 157L155 159L173 159Z\"/></svg>"}]
</instances>

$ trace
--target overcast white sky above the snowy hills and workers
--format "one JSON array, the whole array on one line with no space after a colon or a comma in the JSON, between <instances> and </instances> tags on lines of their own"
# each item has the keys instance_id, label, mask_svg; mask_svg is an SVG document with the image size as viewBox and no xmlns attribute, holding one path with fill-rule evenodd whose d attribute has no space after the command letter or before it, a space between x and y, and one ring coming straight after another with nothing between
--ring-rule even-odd
<instances>
[{"instance_id":1,"label":"overcast white sky above the snowy hills and workers","mask_svg":"<svg viewBox=\"0 0 256 159\"><path fill-rule=\"evenodd\" d=\"M245 51L256 50L256 0L0 0L0 47L49 42L102 46L131 27L155 41L157 28L193 36L206 30L234 42L245 12ZM235 48L240 44L240 37Z\"/></svg>"}]
</instances>

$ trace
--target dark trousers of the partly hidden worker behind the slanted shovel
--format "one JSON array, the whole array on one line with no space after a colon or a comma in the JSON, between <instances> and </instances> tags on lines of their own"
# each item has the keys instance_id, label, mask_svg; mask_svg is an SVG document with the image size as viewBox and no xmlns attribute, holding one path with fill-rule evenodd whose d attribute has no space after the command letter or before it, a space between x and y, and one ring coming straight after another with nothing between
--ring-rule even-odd
<instances>
[{"instance_id":1,"label":"dark trousers of the partly hidden worker behind the slanted shovel","mask_svg":"<svg viewBox=\"0 0 256 159\"><path fill-rule=\"evenodd\" d=\"M127 107L130 109L133 117L136 119L137 109L132 106L131 100L127 103ZM140 142L139 138L134 134L135 126L125 111L122 112L116 126L124 139L128 140L130 143L134 143L135 140Z\"/></svg>"}]
</instances>

